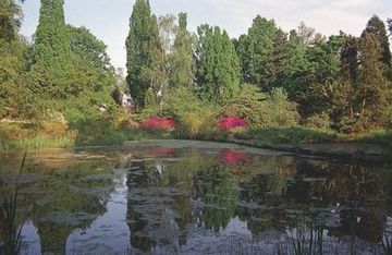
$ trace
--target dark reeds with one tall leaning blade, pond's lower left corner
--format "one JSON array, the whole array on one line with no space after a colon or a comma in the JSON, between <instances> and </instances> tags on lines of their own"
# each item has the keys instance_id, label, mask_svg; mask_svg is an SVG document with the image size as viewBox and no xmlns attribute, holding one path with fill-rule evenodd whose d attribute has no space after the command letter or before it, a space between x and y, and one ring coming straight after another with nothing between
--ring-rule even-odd
<instances>
[{"instance_id":1,"label":"dark reeds with one tall leaning blade, pond's lower left corner","mask_svg":"<svg viewBox=\"0 0 392 255\"><path fill-rule=\"evenodd\" d=\"M19 172L21 177L26 155L23 156L22 166ZM22 229L24 222L17 222L16 208L20 183L16 182L14 192L4 192L0 204L0 254L17 254L22 245Z\"/></svg>"}]
</instances>

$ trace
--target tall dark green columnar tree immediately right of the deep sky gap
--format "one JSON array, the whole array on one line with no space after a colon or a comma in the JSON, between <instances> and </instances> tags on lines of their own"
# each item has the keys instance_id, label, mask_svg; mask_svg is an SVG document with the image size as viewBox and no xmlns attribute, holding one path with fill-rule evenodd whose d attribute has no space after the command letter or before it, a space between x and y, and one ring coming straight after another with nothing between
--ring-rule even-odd
<instances>
[{"instance_id":1,"label":"tall dark green columnar tree immediately right of the deep sky gap","mask_svg":"<svg viewBox=\"0 0 392 255\"><path fill-rule=\"evenodd\" d=\"M159 38L157 19L149 2L136 0L130 19L126 45L126 82L136 109L145 106L146 93L161 94L164 81L164 52Z\"/></svg>"}]
</instances>

